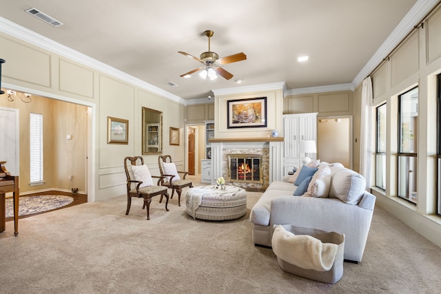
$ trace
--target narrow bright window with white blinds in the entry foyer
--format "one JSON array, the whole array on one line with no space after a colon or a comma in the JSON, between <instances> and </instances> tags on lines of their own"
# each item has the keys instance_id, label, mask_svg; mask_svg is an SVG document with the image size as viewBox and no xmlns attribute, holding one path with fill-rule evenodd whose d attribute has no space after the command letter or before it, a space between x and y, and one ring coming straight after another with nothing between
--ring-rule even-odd
<instances>
[{"instance_id":1,"label":"narrow bright window with white blinds in the entry foyer","mask_svg":"<svg viewBox=\"0 0 441 294\"><path fill-rule=\"evenodd\" d=\"M43 115L30 114L30 184L43 184Z\"/></svg>"}]
</instances>

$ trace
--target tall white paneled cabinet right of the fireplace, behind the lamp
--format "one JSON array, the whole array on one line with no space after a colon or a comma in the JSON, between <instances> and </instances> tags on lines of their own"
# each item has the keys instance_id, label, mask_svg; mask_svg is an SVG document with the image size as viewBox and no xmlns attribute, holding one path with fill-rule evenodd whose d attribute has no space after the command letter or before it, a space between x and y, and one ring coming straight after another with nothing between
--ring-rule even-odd
<instances>
[{"instance_id":1,"label":"tall white paneled cabinet right of the fireplace, behind the lamp","mask_svg":"<svg viewBox=\"0 0 441 294\"><path fill-rule=\"evenodd\" d=\"M300 141L314 140L317 142L317 113L284 114L283 115L283 171L287 175L294 167L302 165L304 153L300 152ZM311 159L316 154L307 154Z\"/></svg>"}]
</instances>

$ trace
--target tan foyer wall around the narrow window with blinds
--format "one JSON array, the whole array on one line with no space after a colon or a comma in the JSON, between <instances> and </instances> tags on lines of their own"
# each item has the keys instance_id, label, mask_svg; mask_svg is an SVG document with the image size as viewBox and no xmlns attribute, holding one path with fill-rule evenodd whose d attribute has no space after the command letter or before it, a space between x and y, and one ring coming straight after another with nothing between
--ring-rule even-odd
<instances>
[{"instance_id":1,"label":"tan foyer wall around the narrow window with blinds","mask_svg":"<svg viewBox=\"0 0 441 294\"><path fill-rule=\"evenodd\" d=\"M32 96L23 103L19 93L14 101L1 96L0 106L19 109L20 191L22 193L43 189L85 191L85 152L87 148L87 107L53 99ZM43 115L43 180L45 183L30 186L29 165L29 115ZM67 140L67 135L72 140ZM72 180L69 180L72 176Z\"/></svg>"}]
</instances>

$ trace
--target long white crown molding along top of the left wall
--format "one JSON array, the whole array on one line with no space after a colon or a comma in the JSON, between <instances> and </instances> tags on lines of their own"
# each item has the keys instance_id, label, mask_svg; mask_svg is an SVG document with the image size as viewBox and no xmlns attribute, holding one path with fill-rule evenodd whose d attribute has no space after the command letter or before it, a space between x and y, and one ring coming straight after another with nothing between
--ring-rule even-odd
<instances>
[{"instance_id":1,"label":"long white crown molding along top of the left wall","mask_svg":"<svg viewBox=\"0 0 441 294\"><path fill-rule=\"evenodd\" d=\"M61 45L60 43L52 41L51 39L48 39L41 34L37 34L32 30L28 30L27 28L24 28L21 25L17 25L17 23L13 23L12 21L4 19L3 17L0 17L0 32L4 32L5 34L14 36L14 38L17 38L21 41L31 43L32 45L36 45L39 48L43 48L55 54L59 54L60 56L76 61L88 67L92 67L94 70L98 70L99 72L103 72L104 74L119 78L121 81L125 81L132 85L135 85L136 87L139 87L143 90L147 90L154 94L158 94L172 101L185 105L185 100L179 96L162 90L161 88L142 81L139 78L135 78L130 74L121 72L121 70L116 70L116 68L111 67L110 65L102 63L101 61L97 61L96 59L92 59L85 54L82 54L80 52L77 52L76 50L72 50L71 48L66 47L65 45Z\"/></svg>"}]
</instances>

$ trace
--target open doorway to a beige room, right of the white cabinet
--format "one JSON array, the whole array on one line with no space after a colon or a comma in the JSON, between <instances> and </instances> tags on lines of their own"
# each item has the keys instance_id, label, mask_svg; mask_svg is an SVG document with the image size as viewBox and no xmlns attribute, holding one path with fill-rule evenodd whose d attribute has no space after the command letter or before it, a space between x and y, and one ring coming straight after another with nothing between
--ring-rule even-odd
<instances>
[{"instance_id":1,"label":"open doorway to a beige room, right of the white cabinet","mask_svg":"<svg viewBox=\"0 0 441 294\"><path fill-rule=\"evenodd\" d=\"M320 161L340 162L352 169L352 117L318 118L317 155Z\"/></svg>"}]
</instances>

